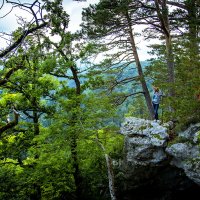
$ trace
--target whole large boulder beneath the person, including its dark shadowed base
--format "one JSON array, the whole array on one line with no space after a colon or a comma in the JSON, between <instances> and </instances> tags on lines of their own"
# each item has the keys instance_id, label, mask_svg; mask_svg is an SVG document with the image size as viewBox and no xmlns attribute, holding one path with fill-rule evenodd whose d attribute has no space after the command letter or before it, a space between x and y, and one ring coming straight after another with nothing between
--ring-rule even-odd
<instances>
[{"instance_id":1,"label":"whole large boulder beneath the person, including its dark shadowed base","mask_svg":"<svg viewBox=\"0 0 200 200\"><path fill-rule=\"evenodd\" d=\"M166 165L168 128L159 122L134 117L125 118L121 126L125 135L122 170L126 190L146 184Z\"/></svg>"}]
</instances>

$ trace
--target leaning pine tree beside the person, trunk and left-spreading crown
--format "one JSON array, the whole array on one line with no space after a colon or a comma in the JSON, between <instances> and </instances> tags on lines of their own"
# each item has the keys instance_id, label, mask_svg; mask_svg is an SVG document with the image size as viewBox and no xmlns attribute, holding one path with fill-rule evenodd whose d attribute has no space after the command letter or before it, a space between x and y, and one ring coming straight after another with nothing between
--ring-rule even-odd
<instances>
[{"instance_id":1,"label":"leaning pine tree beside the person, trunk and left-spreading crown","mask_svg":"<svg viewBox=\"0 0 200 200\"><path fill-rule=\"evenodd\" d=\"M133 74L132 80L138 80L140 83L141 93L144 94L150 118L153 118L151 98L135 42L133 29L135 25L133 13L135 10L137 10L137 6L132 1L100 1L96 6L90 6L84 10L83 20L85 23L83 23L82 27L83 33L97 43L101 41L106 46L107 51L117 51L110 59L112 64L109 70L115 64L115 69L118 68L118 71L122 73L130 63L136 63L138 76L134 77L135 72L130 72ZM126 63L124 64L123 62ZM125 80L116 82L123 84L123 81L126 82ZM132 95L135 94L138 94L138 92L134 92Z\"/></svg>"}]
</instances>

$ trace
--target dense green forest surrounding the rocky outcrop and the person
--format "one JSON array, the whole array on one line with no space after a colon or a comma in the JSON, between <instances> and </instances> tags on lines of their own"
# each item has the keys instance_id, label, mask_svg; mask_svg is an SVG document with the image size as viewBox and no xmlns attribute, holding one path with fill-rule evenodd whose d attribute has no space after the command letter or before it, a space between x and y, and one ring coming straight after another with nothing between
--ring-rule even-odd
<instances>
[{"instance_id":1,"label":"dense green forest surrounding the rocky outcrop and the person","mask_svg":"<svg viewBox=\"0 0 200 200\"><path fill-rule=\"evenodd\" d=\"M18 13L0 33L0 199L116 199L120 123L153 120L152 85L162 122L199 122L198 0L100 0L75 33L62 0L3 0L0 13L8 5L31 20ZM146 62L141 35L158 41Z\"/></svg>"}]
</instances>

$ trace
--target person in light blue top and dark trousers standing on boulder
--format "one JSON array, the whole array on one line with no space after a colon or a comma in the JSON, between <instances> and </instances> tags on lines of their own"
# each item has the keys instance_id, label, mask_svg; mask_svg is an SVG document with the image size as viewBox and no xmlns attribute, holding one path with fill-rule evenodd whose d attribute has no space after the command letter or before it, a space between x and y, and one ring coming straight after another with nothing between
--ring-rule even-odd
<instances>
[{"instance_id":1,"label":"person in light blue top and dark trousers standing on boulder","mask_svg":"<svg viewBox=\"0 0 200 200\"><path fill-rule=\"evenodd\" d=\"M154 109L154 119L158 120L158 108L162 96L162 92L160 92L158 87L154 87L154 93L153 93L153 98L152 98L152 104L153 104L153 109Z\"/></svg>"}]
</instances>

